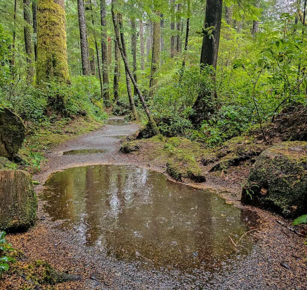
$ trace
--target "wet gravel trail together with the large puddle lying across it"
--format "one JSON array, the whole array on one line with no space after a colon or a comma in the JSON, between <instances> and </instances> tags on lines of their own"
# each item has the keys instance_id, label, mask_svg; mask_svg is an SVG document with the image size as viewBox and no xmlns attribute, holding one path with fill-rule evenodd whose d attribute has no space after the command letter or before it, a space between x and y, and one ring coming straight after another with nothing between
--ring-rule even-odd
<instances>
[{"instance_id":1,"label":"wet gravel trail together with the large puddle lying across it","mask_svg":"<svg viewBox=\"0 0 307 290\"><path fill-rule=\"evenodd\" d=\"M119 138L137 129L106 124L68 141L47 152L34 176L49 177L36 187L37 226L9 240L83 277L57 289L307 288L305 238L289 221L172 183L119 153ZM105 151L63 155L84 149Z\"/></svg>"}]
</instances>

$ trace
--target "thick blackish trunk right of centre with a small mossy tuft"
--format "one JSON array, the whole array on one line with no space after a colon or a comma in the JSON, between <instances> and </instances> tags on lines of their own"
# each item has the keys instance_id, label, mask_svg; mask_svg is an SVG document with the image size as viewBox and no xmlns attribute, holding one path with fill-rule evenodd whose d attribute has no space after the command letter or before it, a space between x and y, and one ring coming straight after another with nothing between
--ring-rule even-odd
<instances>
[{"instance_id":1,"label":"thick blackish trunk right of centre with a small mossy tuft","mask_svg":"<svg viewBox=\"0 0 307 290\"><path fill-rule=\"evenodd\" d=\"M216 69L220 44L222 6L223 0L207 0L203 43L200 55L201 69L205 66L212 66L213 69ZM210 33L212 29L213 31ZM194 115L191 117L191 121L194 125L199 125L202 120L207 118L208 111L212 108L212 104L208 104L208 96L204 95L205 93L200 92L193 105Z\"/></svg>"}]
</instances>

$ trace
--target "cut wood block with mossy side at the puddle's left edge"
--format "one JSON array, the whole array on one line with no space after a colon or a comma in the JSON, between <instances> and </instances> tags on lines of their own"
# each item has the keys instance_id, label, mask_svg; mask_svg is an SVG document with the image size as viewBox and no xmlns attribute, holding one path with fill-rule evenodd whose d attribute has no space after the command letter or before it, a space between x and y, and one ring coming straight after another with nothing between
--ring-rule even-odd
<instances>
[{"instance_id":1,"label":"cut wood block with mossy side at the puddle's left edge","mask_svg":"<svg viewBox=\"0 0 307 290\"><path fill-rule=\"evenodd\" d=\"M0 230L20 231L35 223L37 196L29 173L0 170Z\"/></svg>"}]
</instances>

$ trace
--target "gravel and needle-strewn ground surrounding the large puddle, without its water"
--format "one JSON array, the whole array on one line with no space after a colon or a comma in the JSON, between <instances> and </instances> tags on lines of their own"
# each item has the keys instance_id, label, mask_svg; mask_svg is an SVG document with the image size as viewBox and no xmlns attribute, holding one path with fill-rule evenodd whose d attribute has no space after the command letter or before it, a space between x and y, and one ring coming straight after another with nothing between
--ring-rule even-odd
<instances>
[{"instance_id":1,"label":"gravel and needle-strewn ground surrounding the large puddle, without its water","mask_svg":"<svg viewBox=\"0 0 307 290\"><path fill-rule=\"evenodd\" d=\"M119 152L121 138L138 129L136 123L124 126L105 125L46 150L45 157L48 162L33 176L33 179L44 183L52 172L94 164L133 165L165 174L165 163L149 158L150 147L147 149L142 147L138 154ZM103 155L62 154L63 151L78 149L105 149L106 152ZM245 170L244 168L241 169ZM227 265L222 265L214 272L204 272L201 279L191 279L191 276L181 275L176 271L144 268L140 261L116 260L100 253L96 247L80 245L73 233L56 227L56 222L44 212L43 201L40 198L37 225L26 233L10 234L7 238L14 248L21 250L26 256L22 263L42 260L57 271L82 277L80 281L56 284L53 286L55 289L306 289L305 237L291 227L289 220L265 210L243 206L240 203L239 185L242 177L238 178L242 172L233 174L232 178L227 178L212 173L206 176L207 181L202 183L183 178L185 184L210 188L212 192L222 194L234 206L242 210L252 210L258 215L259 226L250 233L255 240L251 253L240 259L235 268L229 269ZM42 185L36 186L39 197L42 189ZM20 272L9 272L5 280L1 281L0 289L34 288L34 286L33 281L29 282ZM49 286L45 284L42 287Z\"/></svg>"}]
</instances>

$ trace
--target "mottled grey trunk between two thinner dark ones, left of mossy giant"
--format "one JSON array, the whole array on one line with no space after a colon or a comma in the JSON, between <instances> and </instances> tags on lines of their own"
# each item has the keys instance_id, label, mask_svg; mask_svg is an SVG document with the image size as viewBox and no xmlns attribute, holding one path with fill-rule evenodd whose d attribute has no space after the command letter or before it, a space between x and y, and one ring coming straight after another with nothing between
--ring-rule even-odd
<instances>
[{"instance_id":1,"label":"mottled grey trunk between two thinner dark ones, left of mossy giant","mask_svg":"<svg viewBox=\"0 0 307 290\"><path fill-rule=\"evenodd\" d=\"M25 36L25 53L27 59L27 80L28 82L32 82L34 79L34 55L31 37L30 0L23 0L23 19L25 20L23 31Z\"/></svg>"}]
</instances>

